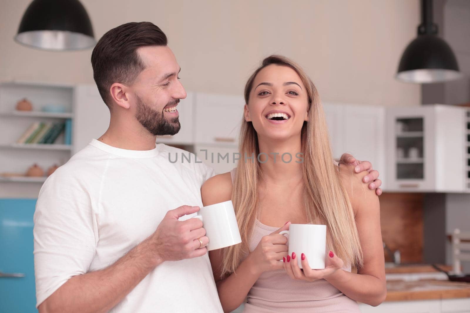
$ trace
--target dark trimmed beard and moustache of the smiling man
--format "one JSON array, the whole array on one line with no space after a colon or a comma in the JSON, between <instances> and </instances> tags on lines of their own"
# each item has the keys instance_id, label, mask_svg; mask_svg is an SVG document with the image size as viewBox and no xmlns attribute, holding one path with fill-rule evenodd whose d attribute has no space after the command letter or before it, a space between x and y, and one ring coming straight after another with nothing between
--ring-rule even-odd
<instances>
[{"instance_id":1,"label":"dark trimmed beard and moustache of the smiling man","mask_svg":"<svg viewBox=\"0 0 470 313\"><path fill-rule=\"evenodd\" d=\"M180 131L181 124L178 116L168 120L164 117L163 112L158 112L147 106L137 95L135 98L137 104L135 117L137 118L137 121L139 121L152 135L174 135ZM171 107L176 105L178 102L180 102L180 99L168 102L166 106Z\"/></svg>"}]
</instances>

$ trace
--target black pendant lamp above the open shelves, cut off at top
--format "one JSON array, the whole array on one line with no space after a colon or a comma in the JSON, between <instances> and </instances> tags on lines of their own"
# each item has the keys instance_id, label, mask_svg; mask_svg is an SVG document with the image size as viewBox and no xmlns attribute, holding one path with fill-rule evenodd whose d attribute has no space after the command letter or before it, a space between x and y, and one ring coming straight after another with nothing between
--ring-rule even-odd
<instances>
[{"instance_id":1,"label":"black pendant lamp above the open shelves, cut off at top","mask_svg":"<svg viewBox=\"0 0 470 313\"><path fill-rule=\"evenodd\" d=\"M96 40L85 8L78 0L34 0L24 12L16 42L53 50L91 48Z\"/></svg>"}]
</instances>

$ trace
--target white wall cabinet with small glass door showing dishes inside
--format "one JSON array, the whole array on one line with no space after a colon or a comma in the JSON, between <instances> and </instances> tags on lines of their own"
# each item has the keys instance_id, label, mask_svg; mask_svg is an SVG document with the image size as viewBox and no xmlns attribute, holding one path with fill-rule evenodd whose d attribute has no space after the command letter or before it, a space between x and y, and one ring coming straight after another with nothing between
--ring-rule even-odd
<instances>
[{"instance_id":1,"label":"white wall cabinet with small glass door showing dishes inside","mask_svg":"<svg viewBox=\"0 0 470 313\"><path fill-rule=\"evenodd\" d=\"M466 191L466 111L427 105L387 110L387 191Z\"/></svg>"}]
</instances>

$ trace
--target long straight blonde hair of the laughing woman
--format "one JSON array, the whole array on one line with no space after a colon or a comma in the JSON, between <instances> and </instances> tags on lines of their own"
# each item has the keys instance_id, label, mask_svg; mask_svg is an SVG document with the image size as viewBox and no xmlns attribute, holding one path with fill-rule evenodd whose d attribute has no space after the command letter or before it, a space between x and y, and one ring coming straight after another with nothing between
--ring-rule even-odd
<instances>
[{"instance_id":1,"label":"long straight blonde hair of the laughing woman","mask_svg":"<svg viewBox=\"0 0 470 313\"><path fill-rule=\"evenodd\" d=\"M362 251L354 213L333 161L325 114L312 80L295 62L281 55L271 55L261 62L261 66L248 79L244 92L245 103L249 105L255 77L261 69L271 64L294 69L305 85L308 95L309 122L304 122L301 130L301 152L304 158L303 200L308 221L327 225L327 245L330 249L342 258L345 264L360 267ZM239 152L242 159L237 165L232 202L242 243L223 249L222 277L235 272L243 257L250 252L248 243L259 213L258 186L262 173L259 163L256 162L259 153L258 136L253 124L244 119L240 131ZM255 161L243 162L243 156L251 156L252 153L255 154Z\"/></svg>"}]
</instances>

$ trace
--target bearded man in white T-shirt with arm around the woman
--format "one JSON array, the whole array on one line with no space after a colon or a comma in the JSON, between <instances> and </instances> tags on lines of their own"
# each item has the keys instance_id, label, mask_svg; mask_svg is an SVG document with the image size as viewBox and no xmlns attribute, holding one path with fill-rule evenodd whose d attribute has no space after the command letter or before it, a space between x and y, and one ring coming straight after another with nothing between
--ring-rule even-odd
<instances>
[{"instance_id":1,"label":"bearded man in white T-shirt with arm around the woman","mask_svg":"<svg viewBox=\"0 0 470 313\"><path fill-rule=\"evenodd\" d=\"M180 150L155 144L157 135L180 129L174 108L186 97L165 34L148 22L118 26L97 43L92 65L110 126L39 193L39 312L222 312L209 239L191 218L214 172L171 163L168 153Z\"/></svg>"}]
</instances>

